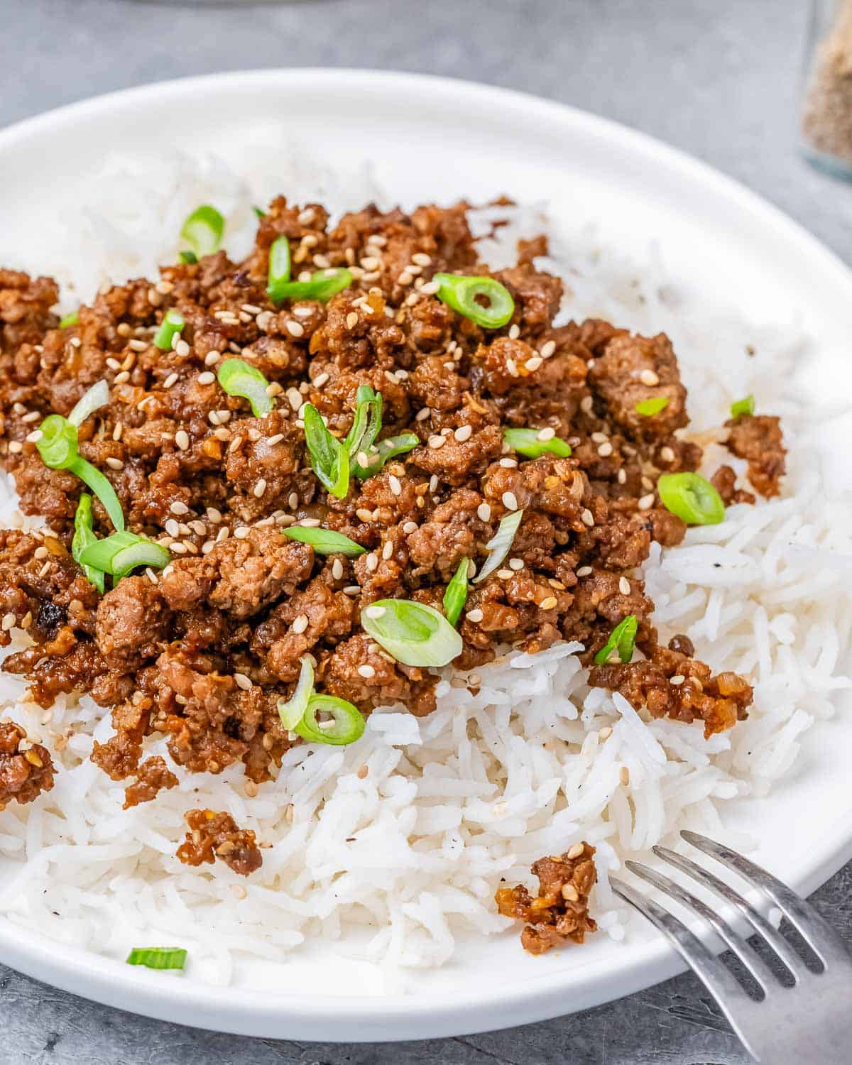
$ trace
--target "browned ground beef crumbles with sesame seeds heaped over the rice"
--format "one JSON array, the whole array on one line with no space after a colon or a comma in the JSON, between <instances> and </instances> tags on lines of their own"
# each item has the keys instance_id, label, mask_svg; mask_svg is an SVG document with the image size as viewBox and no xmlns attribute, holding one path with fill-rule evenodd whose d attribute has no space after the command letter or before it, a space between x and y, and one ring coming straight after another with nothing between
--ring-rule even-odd
<instances>
[{"instance_id":1,"label":"browned ground beef crumbles with sesame seeds heaped over the rice","mask_svg":"<svg viewBox=\"0 0 852 1065\"><path fill-rule=\"evenodd\" d=\"M752 690L742 678L712 676L686 638L658 643L640 576L652 540L674 545L686 531L659 502L658 475L693 471L702 458L682 438L687 394L671 343L596 320L554 326L562 283L534 265L543 237L522 242L518 264L493 274L514 298L510 323L486 331L458 315L428 282L437 271L488 273L465 212L464 203L410 215L367 207L329 228L320 204L279 198L244 262L219 251L164 267L159 282L104 289L64 329L53 281L0 271L0 459L23 512L49 524L39 534L0 530L0 645L14 627L33 640L4 669L26 676L45 707L60 692L88 691L111 708L115 736L92 757L114 780L130 780L127 806L176 783L162 758L143 760L153 734L189 770L243 761L251 782L266 780L298 742L276 704L291 694L306 653L317 663L317 690L363 712L403 702L429 714L436 676L393 661L361 629L360 611L389 596L440 608L459 561L480 567L515 507L524 517L506 568L471 587L459 669L509 643L535 652L558 640L585 644L588 663L633 613L644 660L596 667L591 684L656 717L700 719L707 736L746 717ZM280 234L294 274L348 265L351 288L327 305L274 307L267 260ZM152 338L170 308L186 326L162 351ZM219 388L216 367L232 355L272 382L276 409L265 417ZM173 554L162 574L127 577L104 595L69 555L81 482L47 469L28 440L45 415L68 414L101 379L111 399L81 427L80 453L109 477L128 527ZM338 499L310 468L299 410L313 403L341 437L365 383L383 396L381 436L413 431L421 445L376 476L353 478ZM660 413L637 413L638 402L659 395L668 399ZM514 455L505 426L552 428L573 454ZM753 486L776 492L776 420L741 417L728 428ZM723 471L726 498L746 498ZM112 531L98 501L94 515L99 536ZM281 536L304 519L368 554L320 557ZM359 672L366 665L372 672ZM50 787L50 758L33 748L44 768L31 756L23 781L9 742L0 802L26 802ZM210 828L199 821L195 831L203 847L183 845L189 861L212 853Z\"/></svg>"}]
</instances>

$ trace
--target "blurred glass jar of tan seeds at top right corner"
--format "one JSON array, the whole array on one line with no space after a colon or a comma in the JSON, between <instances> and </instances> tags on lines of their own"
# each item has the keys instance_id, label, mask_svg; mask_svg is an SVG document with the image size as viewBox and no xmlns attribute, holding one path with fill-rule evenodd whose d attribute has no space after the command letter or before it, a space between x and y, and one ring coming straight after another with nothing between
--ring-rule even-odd
<instances>
[{"instance_id":1,"label":"blurred glass jar of tan seeds at top right corner","mask_svg":"<svg viewBox=\"0 0 852 1065\"><path fill-rule=\"evenodd\" d=\"M806 63L804 153L852 180L852 0L812 0Z\"/></svg>"}]
</instances>

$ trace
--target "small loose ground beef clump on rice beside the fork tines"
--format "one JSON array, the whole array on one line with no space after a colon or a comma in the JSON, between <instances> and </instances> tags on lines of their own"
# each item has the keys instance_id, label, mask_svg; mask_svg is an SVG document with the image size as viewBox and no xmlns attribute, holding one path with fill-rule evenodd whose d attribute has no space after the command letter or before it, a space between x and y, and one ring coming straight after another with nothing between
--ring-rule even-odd
<instances>
[{"instance_id":1,"label":"small loose ground beef clump on rice beside the fork tines","mask_svg":"<svg viewBox=\"0 0 852 1065\"><path fill-rule=\"evenodd\" d=\"M581 944L587 932L596 930L589 916L589 892L597 880L593 855L594 848L583 842L564 854L534 862L531 871L539 879L536 898L522 884L497 889L499 913L526 921L521 932L524 950L543 954L567 939Z\"/></svg>"}]
</instances>

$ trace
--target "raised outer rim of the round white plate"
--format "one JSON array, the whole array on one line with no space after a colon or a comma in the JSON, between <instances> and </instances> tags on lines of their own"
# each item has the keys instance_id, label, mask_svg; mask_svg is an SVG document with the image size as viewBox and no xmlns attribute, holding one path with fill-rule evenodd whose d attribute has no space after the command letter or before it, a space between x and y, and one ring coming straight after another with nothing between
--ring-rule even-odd
<instances>
[{"instance_id":1,"label":"raised outer rim of the round white plate","mask_svg":"<svg viewBox=\"0 0 852 1065\"><path fill-rule=\"evenodd\" d=\"M548 100L532 94L462 79L396 70L371 70L334 67L261 68L231 70L151 82L117 89L75 101L23 118L0 129L0 155L14 150L30 137L43 136L51 129L72 126L115 109L144 106L146 101L167 95L180 102L204 89L219 92L229 83L262 84L298 81L302 89L312 79L337 80L353 92L380 89L382 94L404 86L407 93L452 94L458 103L460 94L469 99L493 104L507 111L523 109L531 117L553 121L594 136L626 145L645 158L661 162L687 181L714 191L752 216L764 228L786 235L793 247L806 252L821 271L850 292L852 273L840 257L781 208L679 148L650 134L591 112ZM835 831L812 847L817 851L809 874L799 880L799 888L809 894L852 858L852 809L842 819L843 830ZM821 848L819 843L822 843ZM525 978L496 996L493 990L478 998L473 995L459 1001L447 993L417 999L413 996L359 996L321 999L315 995L283 999L269 993L223 988L198 982L173 983L162 973L130 969L121 962L85 952L81 955L65 945L33 938L29 930L9 918L0 920L0 953L12 967L34 979L49 982L77 995L155 1017L161 1020L209 1028L222 1032L265 1037L321 1038L324 1042L366 1042L413 1039L470 1034L508 1028L560 1016L566 1012L566 990L571 989L570 1012L603 1004L624 995L652 986L683 971L685 966L674 949L657 937L642 945L642 957L627 968L612 963L599 965L596 971L574 986L558 970ZM86 985L81 987L84 978ZM155 978L155 979L151 979ZM328 1002L333 1003L333 1016Z\"/></svg>"}]
</instances>

